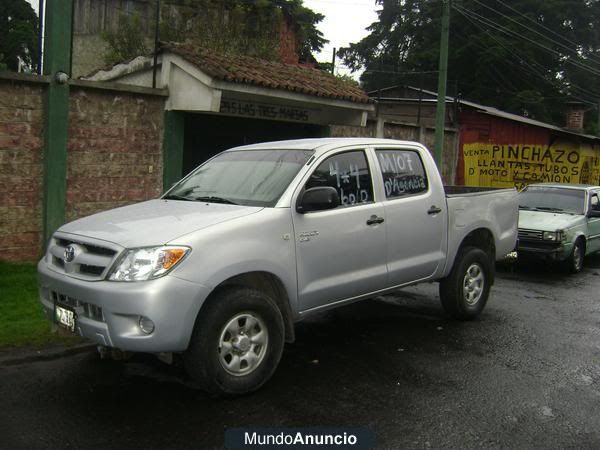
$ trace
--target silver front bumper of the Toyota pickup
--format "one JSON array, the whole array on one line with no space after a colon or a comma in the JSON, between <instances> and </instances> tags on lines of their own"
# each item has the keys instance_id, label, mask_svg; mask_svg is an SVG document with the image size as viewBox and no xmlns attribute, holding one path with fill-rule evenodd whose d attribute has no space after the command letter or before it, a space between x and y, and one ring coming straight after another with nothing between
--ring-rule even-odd
<instances>
[{"instance_id":1,"label":"silver front bumper of the Toyota pickup","mask_svg":"<svg viewBox=\"0 0 600 450\"><path fill-rule=\"evenodd\" d=\"M196 316L210 289L173 275L150 281L83 281L38 264L40 302L54 321L58 300L73 306L77 334L132 352L180 352L189 344ZM139 318L150 318L154 331L144 334Z\"/></svg>"}]
</instances>

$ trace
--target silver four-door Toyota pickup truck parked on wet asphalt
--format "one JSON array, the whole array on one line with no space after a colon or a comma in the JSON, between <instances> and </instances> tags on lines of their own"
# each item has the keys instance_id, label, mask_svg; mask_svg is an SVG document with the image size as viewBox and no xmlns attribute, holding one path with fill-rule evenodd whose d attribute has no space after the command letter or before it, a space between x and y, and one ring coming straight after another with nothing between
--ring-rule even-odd
<instances>
[{"instance_id":1,"label":"silver four-door Toyota pickup truck parked on wet asphalt","mask_svg":"<svg viewBox=\"0 0 600 450\"><path fill-rule=\"evenodd\" d=\"M444 309L475 318L517 216L515 190L445 191L418 143L249 145L160 199L63 225L38 265L40 300L101 346L182 354L204 389L240 394L314 312L440 281Z\"/></svg>"}]
</instances>

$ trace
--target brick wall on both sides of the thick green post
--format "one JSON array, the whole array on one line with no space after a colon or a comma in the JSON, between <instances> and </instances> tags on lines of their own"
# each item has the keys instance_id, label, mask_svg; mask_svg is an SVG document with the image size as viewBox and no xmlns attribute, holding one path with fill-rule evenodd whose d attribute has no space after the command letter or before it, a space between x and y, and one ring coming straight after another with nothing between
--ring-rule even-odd
<instances>
[{"instance_id":1,"label":"brick wall on both sides of the thick green post","mask_svg":"<svg viewBox=\"0 0 600 450\"><path fill-rule=\"evenodd\" d=\"M43 82L0 77L0 260L41 256L44 102ZM66 221L160 194L163 105L162 96L71 88Z\"/></svg>"}]
</instances>

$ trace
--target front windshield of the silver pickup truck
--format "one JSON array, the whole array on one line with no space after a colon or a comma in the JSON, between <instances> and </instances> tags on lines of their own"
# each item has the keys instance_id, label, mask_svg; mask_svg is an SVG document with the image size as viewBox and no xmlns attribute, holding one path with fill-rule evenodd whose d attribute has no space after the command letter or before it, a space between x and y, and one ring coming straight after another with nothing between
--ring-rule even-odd
<instances>
[{"instance_id":1,"label":"front windshield of the silver pickup truck","mask_svg":"<svg viewBox=\"0 0 600 450\"><path fill-rule=\"evenodd\" d=\"M234 150L194 170L163 198L273 207L309 160L309 150Z\"/></svg>"}]
</instances>

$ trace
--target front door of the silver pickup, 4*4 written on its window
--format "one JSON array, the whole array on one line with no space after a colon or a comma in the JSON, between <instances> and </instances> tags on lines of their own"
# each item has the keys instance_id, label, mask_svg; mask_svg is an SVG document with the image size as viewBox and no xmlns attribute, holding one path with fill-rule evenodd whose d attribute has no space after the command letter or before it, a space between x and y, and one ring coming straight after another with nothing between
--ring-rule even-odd
<instances>
[{"instance_id":1,"label":"front door of the silver pickup, 4*4 written on its window","mask_svg":"<svg viewBox=\"0 0 600 450\"><path fill-rule=\"evenodd\" d=\"M317 186L335 188L342 204L306 214L292 207L300 311L381 289L387 278L384 210L375 203L365 151L320 162L304 188Z\"/></svg>"}]
</instances>

